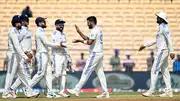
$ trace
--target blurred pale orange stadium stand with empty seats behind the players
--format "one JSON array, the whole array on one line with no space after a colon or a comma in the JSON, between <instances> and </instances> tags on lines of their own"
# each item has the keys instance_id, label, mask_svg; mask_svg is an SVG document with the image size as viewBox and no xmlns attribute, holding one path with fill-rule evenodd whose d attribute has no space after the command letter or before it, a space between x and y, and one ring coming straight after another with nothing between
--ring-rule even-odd
<instances>
[{"instance_id":1,"label":"blurred pale orange stadium stand with empty seats behind the players","mask_svg":"<svg viewBox=\"0 0 180 101\"><path fill-rule=\"evenodd\" d=\"M165 11L168 14L169 26L172 32L175 53L180 53L180 0L0 0L0 69L7 52L7 33L11 27L11 17L20 14L25 6L29 5L33 12L30 18L30 30L34 35L36 26L34 20L38 16L47 17L47 36L50 38L57 18L64 19L65 32L69 44L74 38L79 38L74 25L88 34L86 18L94 15L98 18L98 25L104 34L104 66L111 70L109 59L114 49L120 49L121 62L125 53L131 52L135 61L135 71L146 71L146 59L150 50L138 52L138 48L146 41L155 38L157 31L155 14ZM85 53L88 58L87 46L73 44L70 50L73 64L80 58L79 53ZM170 68L172 69L172 62Z\"/></svg>"}]
</instances>

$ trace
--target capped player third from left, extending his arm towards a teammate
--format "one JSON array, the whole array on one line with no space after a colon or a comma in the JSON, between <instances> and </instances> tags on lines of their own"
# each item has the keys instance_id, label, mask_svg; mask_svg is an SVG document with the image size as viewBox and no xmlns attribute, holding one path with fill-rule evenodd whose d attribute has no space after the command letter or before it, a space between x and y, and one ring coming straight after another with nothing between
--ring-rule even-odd
<instances>
[{"instance_id":1,"label":"capped player third from left, extending his arm towards a teammate","mask_svg":"<svg viewBox=\"0 0 180 101\"><path fill-rule=\"evenodd\" d=\"M33 87L36 83L39 82L43 77L45 78L45 83L48 88L47 98L59 98L60 96L55 94L52 91L52 70L49 58L49 49L50 47L61 48L60 43L51 43L46 39L46 21L43 17L37 17L35 20L37 25L35 41L36 41L36 59L38 64L38 71L32 78L30 86Z\"/></svg>"}]
</instances>

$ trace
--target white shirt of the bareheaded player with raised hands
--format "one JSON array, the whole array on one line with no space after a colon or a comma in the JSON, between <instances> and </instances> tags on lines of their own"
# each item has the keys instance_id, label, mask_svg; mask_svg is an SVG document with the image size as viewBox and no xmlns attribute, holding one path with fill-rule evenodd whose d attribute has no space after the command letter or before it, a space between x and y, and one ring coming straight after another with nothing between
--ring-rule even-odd
<instances>
[{"instance_id":1,"label":"white shirt of the bareheaded player with raised hands","mask_svg":"<svg viewBox=\"0 0 180 101\"><path fill-rule=\"evenodd\" d=\"M97 26L94 26L89 38L95 38L94 42L90 45L90 52L103 52L103 33L101 29Z\"/></svg>"}]
</instances>

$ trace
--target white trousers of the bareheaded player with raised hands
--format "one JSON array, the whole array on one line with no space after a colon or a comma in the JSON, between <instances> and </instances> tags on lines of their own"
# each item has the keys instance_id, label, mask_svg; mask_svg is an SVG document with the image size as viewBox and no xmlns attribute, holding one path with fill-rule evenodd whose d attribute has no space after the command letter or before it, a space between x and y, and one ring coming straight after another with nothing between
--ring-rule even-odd
<instances>
[{"instance_id":1,"label":"white trousers of the bareheaded player with raised hands","mask_svg":"<svg viewBox=\"0 0 180 101\"><path fill-rule=\"evenodd\" d=\"M100 80L103 92L108 92L106 77L103 68L103 57L104 57L103 53L97 53L97 52L90 53L90 56L86 61L85 68L83 69L81 79L74 88L76 92L80 92L81 88L84 86L84 84L86 83L89 76L94 70Z\"/></svg>"}]
</instances>

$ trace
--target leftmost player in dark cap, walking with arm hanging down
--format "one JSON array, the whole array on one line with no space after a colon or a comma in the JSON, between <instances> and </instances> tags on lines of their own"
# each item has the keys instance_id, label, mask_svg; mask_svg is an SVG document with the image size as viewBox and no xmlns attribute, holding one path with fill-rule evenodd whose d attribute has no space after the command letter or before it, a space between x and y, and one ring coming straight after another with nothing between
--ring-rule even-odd
<instances>
[{"instance_id":1,"label":"leftmost player in dark cap, walking with arm hanging down","mask_svg":"<svg viewBox=\"0 0 180 101\"><path fill-rule=\"evenodd\" d=\"M5 91L2 94L2 98L15 98L16 96L10 91L10 87L12 84L12 80L14 75L17 73L18 78L23 82L26 87L29 87L26 75L23 72L22 67L18 67L22 64L28 64L31 62L30 57L28 57L23 50L21 49L21 45L19 43L20 40L20 29L21 29L21 20L19 15L15 15L12 18L12 28L8 33L8 71L6 74L5 80ZM29 87L30 88L30 87ZM31 94L34 96L35 94Z\"/></svg>"}]
</instances>

